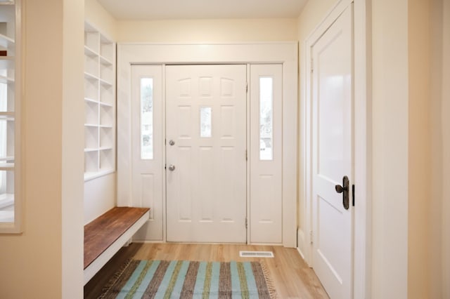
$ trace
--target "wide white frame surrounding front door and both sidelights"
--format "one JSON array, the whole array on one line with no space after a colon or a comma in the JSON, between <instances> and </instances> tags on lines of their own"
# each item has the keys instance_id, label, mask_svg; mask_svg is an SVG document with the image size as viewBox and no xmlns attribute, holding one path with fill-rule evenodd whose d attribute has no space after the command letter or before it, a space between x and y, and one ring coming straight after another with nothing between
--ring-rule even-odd
<instances>
[{"instance_id":1,"label":"wide white frame surrounding front door and both sidelights","mask_svg":"<svg viewBox=\"0 0 450 299\"><path fill-rule=\"evenodd\" d=\"M131 204L131 65L283 65L283 246L297 246L297 42L117 45L117 205ZM164 69L164 67L163 67ZM163 86L165 73L162 74ZM164 89L164 88L163 88ZM163 102L165 94L163 93ZM165 107L163 108L165 111ZM165 116L163 116L165 123ZM163 124L164 125L164 124ZM163 128L165 135L165 128ZM163 157L165 161L165 157ZM163 182L165 188L165 181ZM165 190L163 190L165 194ZM165 197L165 195L163 195ZM165 198L163 199L165 202ZM165 211L164 232L165 232ZM248 211L248 217L249 217ZM248 230L249 232L250 230ZM163 240L165 241L165 237Z\"/></svg>"}]
</instances>

